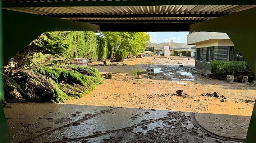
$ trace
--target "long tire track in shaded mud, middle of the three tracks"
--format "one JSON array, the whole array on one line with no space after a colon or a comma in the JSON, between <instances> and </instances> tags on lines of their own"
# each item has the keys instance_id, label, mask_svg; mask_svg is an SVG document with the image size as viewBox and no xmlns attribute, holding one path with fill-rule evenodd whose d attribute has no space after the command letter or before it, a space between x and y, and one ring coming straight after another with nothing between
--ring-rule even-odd
<instances>
[{"instance_id":1,"label":"long tire track in shaded mud, middle of the three tracks","mask_svg":"<svg viewBox=\"0 0 256 143\"><path fill-rule=\"evenodd\" d=\"M72 141L77 141L77 140L82 140L82 139L88 139L88 138L95 138L95 137L100 137L101 135L106 135L106 134L110 134L110 133L115 133L119 130L129 130L129 129L135 129L137 128L137 126L142 126L142 125L147 125L147 124L151 124L154 122L157 122L159 120L164 120L170 118L169 116L167 117L163 117L163 118L159 118L159 119L155 119L155 120L151 120L145 123L139 123L137 125L132 125L130 127L125 127L125 128L121 128L121 129L115 129L115 130L110 130L110 131L105 131L104 133L99 133L99 134L94 134L94 135L89 135L86 137L80 137L80 138L72 138L72 139L65 139L65 140L58 140L56 142L51 142L51 143L66 143L66 142L72 142Z\"/></svg>"}]
</instances>

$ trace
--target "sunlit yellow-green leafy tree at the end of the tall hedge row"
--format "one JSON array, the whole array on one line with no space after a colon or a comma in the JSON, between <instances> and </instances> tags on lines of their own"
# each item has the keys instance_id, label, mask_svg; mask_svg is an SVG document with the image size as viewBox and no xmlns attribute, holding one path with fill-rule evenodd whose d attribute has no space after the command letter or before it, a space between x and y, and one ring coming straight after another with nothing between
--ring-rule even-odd
<instances>
[{"instance_id":1,"label":"sunlit yellow-green leafy tree at the end of the tall hedge row","mask_svg":"<svg viewBox=\"0 0 256 143\"><path fill-rule=\"evenodd\" d=\"M129 54L138 55L144 52L150 41L150 36L145 32L102 32L109 46L124 49Z\"/></svg>"}]
</instances>

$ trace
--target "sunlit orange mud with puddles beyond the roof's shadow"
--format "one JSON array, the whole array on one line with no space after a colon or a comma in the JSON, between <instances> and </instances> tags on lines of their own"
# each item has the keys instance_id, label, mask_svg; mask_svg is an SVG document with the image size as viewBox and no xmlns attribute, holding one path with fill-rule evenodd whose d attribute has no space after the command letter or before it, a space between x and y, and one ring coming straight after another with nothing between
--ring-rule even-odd
<instances>
[{"instance_id":1,"label":"sunlit orange mud with puddles beyond the roof's shadow","mask_svg":"<svg viewBox=\"0 0 256 143\"><path fill-rule=\"evenodd\" d=\"M178 62L184 67L179 68ZM108 66L102 66L102 63L97 61L90 66L97 68L101 74L118 74L97 86L90 94L65 104L251 116L254 103L245 100L255 100L255 87L236 82L228 84L192 74L195 60L158 56L132 58ZM148 68L158 72L153 79L137 79L133 75L135 70ZM180 89L188 94L186 98L172 95ZM224 95L227 102L220 102L220 98L201 96L202 93L213 92Z\"/></svg>"}]
</instances>

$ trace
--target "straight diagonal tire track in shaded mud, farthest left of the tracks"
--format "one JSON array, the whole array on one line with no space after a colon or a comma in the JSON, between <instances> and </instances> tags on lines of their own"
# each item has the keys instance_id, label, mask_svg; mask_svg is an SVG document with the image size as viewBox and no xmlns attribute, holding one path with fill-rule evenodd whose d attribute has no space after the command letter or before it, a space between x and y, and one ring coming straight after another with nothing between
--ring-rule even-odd
<instances>
[{"instance_id":1,"label":"straight diagonal tire track in shaded mud, farthest left of the tracks","mask_svg":"<svg viewBox=\"0 0 256 143\"><path fill-rule=\"evenodd\" d=\"M22 141L22 142L24 142L24 143L32 142L33 139L42 137L43 135L56 132L57 130L64 129L64 128L69 127L69 126L71 126L71 125L79 124L79 123L84 122L84 121L86 121L86 120L88 120L88 119L94 118L94 117L96 117L96 116L98 116L98 115L102 115L102 114L105 114L105 113L110 113L110 112L112 112L112 110L117 109L117 108L121 108L121 107L115 107L115 108L111 108L111 109L109 109L109 110L103 110L102 112L99 112L99 113L90 115L90 116L88 116L88 117L87 117L87 116L84 116L84 117L82 117L82 119L80 119L80 120L77 120L77 121L75 121L75 122L72 122L72 123L63 125L63 126L58 127L58 128L56 128L56 129L49 130L49 131L47 131L47 132L45 132L45 133L36 135L36 136L34 136L34 137L32 137L32 138L29 138L29 139L26 139L26 140L24 140L24 141Z\"/></svg>"}]
</instances>

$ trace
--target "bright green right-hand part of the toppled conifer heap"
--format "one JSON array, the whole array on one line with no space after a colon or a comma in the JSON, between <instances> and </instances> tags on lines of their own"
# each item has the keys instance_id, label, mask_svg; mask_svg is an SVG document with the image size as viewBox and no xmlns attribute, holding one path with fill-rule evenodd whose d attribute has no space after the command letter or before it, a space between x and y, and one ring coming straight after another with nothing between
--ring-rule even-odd
<instances>
[{"instance_id":1,"label":"bright green right-hand part of the toppled conifer heap","mask_svg":"<svg viewBox=\"0 0 256 143\"><path fill-rule=\"evenodd\" d=\"M33 71L51 80L54 79L52 82L58 83L61 91L53 91L53 95L55 93L63 94L64 92L68 97L72 98L82 97L84 94L91 92L96 85L102 84L104 81L99 71L90 66L64 64L55 68L42 66L33 69ZM64 98L64 100L67 99L69 98Z\"/></svg>"}]
</instances>

